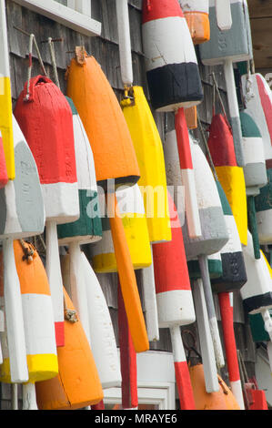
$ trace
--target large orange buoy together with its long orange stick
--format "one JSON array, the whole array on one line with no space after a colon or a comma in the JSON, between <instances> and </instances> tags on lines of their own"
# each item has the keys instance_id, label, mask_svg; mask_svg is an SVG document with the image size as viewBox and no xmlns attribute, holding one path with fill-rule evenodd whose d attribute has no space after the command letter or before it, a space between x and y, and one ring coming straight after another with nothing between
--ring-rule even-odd
<instances>
[{"instance_id":1,"label":"large orange buoy together with its long orange stick","mask_svg":"<svg viewBox=\"0 0 272 428\"><path fill-rule=\"evenodd\" d=\"M106 191L107 209L116 253L126 315L136 352L149 349L146 323L136 286L126 233L119 215L115 189L133 186L140 177L126 119L101 67L83 46L82 60L73 58L67 71L67 96L72 98L92 146L97 184Z\"/></svg>"}]
</instances>

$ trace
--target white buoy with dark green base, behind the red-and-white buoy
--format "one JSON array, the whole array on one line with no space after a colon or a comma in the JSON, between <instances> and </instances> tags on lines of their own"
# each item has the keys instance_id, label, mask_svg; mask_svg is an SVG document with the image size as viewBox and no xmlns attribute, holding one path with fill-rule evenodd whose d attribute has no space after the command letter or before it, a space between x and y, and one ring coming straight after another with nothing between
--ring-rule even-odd
<instances>
[{"instance_id":1,"label":"white buoy with dark green base, behind the red-and-white buoy","mask_svg":"<svg viewBox=\"0 0 272 428\"><path fill-rule=\"evenodd\" d=\"M80 218L73 223L62 224L57 227L60 246L68 245L72 242L87 244L102 238L96 169L92 148L72 99L67 97L67 101L73 113Z\"/></svg>"}]
</instances>

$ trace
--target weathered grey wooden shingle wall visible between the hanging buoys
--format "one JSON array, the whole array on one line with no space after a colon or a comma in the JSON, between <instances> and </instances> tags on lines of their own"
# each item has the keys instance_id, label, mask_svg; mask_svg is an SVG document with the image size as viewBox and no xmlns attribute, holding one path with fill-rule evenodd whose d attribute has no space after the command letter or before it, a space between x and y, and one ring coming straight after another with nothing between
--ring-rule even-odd
<instances>
[{"instance_id":1,"label":"weathered grey wooden shingle wall visible between the hanging buoys","mask_svg":"<svg viewBox=\"0 0 272 428\"><path fill-rule=\"evenodd\" d=\"M65 0L61 3L65 4ZM119 98L122 97L123 86L120 76L115 3L116 0L92 0L92 15L94 19L102 22L102 35L99 37L90 38L82 36L63 25L59 25L42 15L37 15L25 9L24 7L17 5L12 0L6 0L8 42L10 49L10 66L12 76L12 97L14 103L25 85L28 66L28 37L20 33L17 29L15 29L15 27L21 28L28 33L35 34L41 55L45 62L45 68L49 76L52 78L53 73L49 49L47 44L42 42L46 41L49 36L63 39L62 42L55 43L55 54L60 84L64 92L65 70L69 64L70 59L73 57L75 46L85 46L88 54L95 56L96 60L102 66L102 69L106 73L111 86L116 92L116 96ZM148 93L146 90L145 57L143 55L141 39L141 4L141 0L129 0L132 56L135 85L143 86L146 91L146 97L148 98ZM213 86L211 73L213 71L216 73L217 84L225 102L225 107L227 108L226 85L221 66L204 67L200 64L205 99L204 102L198 107L198 116L201 119L204 129L207 129L212 118ZM41 73L41 70L38 65L37 56L34 50L33 76L39 73ZM171 129L171 126L173 127L174 122L172 117L171 115L168 115L167 120L163 114L155 114L155 117L161 137L164 138L166 124L168 130ZM198 139L201 147L205 149L199 131L194 131L193 135ZM42 247L41 251L43 251ZM139 289L141 290L141 271L136 272L136 277ZM106 295L106 300L108 302L108 306L110 308L112 319L115 325L117 338L117 278L115 274L108 274L98 275L98 279ZM235 299L235 321L237 331L237 348L242 352L245 361L249 364L248 367L253 367L255 362L255 347L251 341L250 331L248 329L247 323L245 324L243 309L238 294ZM220 321L219 327L221 329ZM189 328L190 330L194 331L197 338L196 325L190 326ZM161 340L157 343L152 343L151 348L160 351L171 351L171 341L167 330L161 331ZM223 377L226 377L226 371L223 371L221 374ZM2 398L5 399L2 401L2 407L10 408L10 389L6 387L2 388L2 393Z\"/></svg>"}]
</instances>

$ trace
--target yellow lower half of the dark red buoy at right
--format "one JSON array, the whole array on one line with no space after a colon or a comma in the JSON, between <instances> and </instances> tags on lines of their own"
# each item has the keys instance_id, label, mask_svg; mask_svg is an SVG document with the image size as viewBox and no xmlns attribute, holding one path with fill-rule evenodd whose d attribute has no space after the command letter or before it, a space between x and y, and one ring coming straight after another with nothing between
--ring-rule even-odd
<instances>
[{"instance_id":1,"label":"yellow lower half of the dark red buoy at right","mask_svg":"<svg viewBox=\"0 0 272 428\"><path fill-rule=\"evenodd\" d=\"M236 220L240 241L247 246L247 193L244 170L240 167L217 167L216 170Z\"/></svg>"}]
</instances>

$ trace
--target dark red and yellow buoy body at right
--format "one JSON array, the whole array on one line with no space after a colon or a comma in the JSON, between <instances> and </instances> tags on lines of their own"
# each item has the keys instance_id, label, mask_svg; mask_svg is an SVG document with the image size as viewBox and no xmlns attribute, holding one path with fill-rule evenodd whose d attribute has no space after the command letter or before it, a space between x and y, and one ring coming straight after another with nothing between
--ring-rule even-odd
<instances>
[{"instance_id":1,"label":"dark red and yellow buoy body at right","mask_svg":"<svg viewBox=\"0 0 272 428\"><path fill-rule=\"evenodd\" d=\"M247 193L243 168L237 165L233 136L227 117L214 115L209 128L208 148L237 223L240 241L247 245Z\"/></svg>"}]
</instances>

